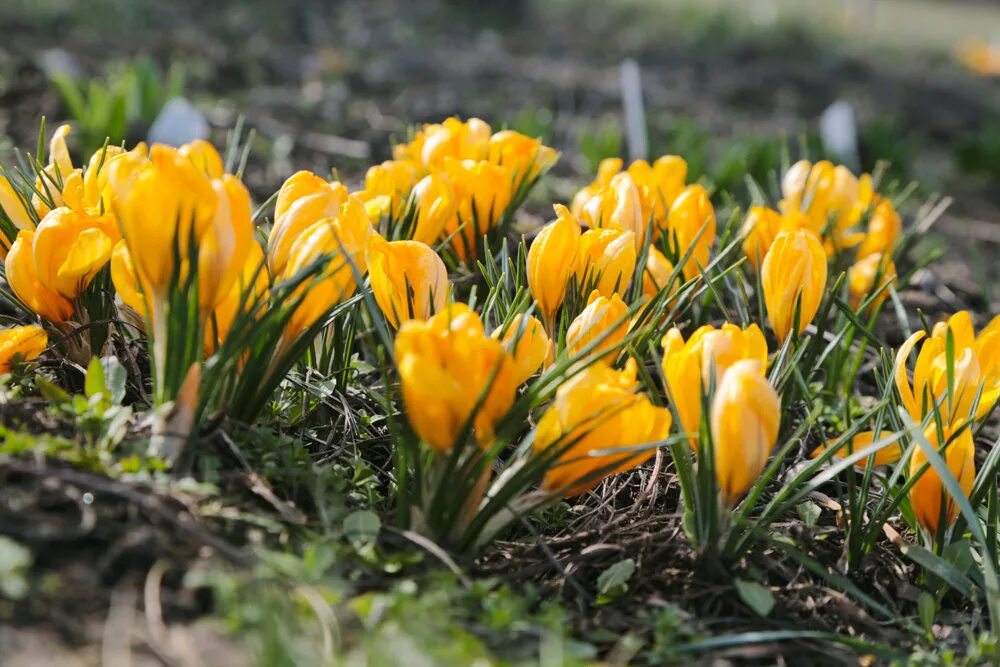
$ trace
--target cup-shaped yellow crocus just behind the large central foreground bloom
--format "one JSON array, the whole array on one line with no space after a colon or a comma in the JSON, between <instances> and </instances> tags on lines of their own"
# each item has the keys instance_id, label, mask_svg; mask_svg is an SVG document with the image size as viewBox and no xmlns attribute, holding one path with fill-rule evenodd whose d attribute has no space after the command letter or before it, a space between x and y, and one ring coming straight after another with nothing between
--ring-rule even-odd
<instances>
[{"instance_id":1,"label":"cup-shaped yellow crocus just behind the large central foreground bloom","mask_svg":"<svg viewBox=\"0 0 1000 667\"><path fill-rule=\"evenodd\" d=\"M368 276L389 324L426 320L448 299L448 269L430 246L417 241L368 237Z\"/></svg>"}]
</instances>

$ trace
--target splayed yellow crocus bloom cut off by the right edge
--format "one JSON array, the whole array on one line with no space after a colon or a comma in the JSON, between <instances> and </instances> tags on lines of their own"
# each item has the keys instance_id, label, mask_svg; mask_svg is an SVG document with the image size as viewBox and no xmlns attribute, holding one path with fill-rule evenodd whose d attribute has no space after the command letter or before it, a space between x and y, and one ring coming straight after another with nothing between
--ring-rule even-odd
<instances>
[{"instance_id":1,"label":"splayed yellow crocus bloom cut off by the right edge","mask_svg":"<svg viewBox=\"0 0 1000 667\"><path fill-rule=\"evenodd\" d=\"M955 343L954 385L948 391L947 336ZM945 424L966 419L982 419L1000 400L1000 315L976 336L968 311L952 315L947 322L934 325L931 337L920 347L913 370L913 385L907 379L910 352L924 337L918 331L896 353L894 376L903 407L915 422L920 422L935 405L940 404ZM982 392L980 394L980 392ZM973 412L973 404L979 405Z\"/></svg>"}]
</instances>

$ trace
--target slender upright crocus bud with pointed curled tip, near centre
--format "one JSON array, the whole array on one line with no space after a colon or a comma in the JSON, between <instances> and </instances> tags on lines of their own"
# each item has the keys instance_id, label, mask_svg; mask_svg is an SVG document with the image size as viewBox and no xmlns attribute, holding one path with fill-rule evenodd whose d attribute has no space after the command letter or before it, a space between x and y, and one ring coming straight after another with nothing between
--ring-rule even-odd
<instances>
[{"instance_id":1,"label":"slender upright crocus bud with pointed curled tip, near centre","mask_svg":"<svg viewBox=\"0 0 1000 667\"><path fill-rule=\"evenodd\" d=\"M528 288L550 329L566 296L580 248L580 225L576 218L562 204L554 208L555 222L543 227L528 249Z\"/></svg>"}]
</instances>

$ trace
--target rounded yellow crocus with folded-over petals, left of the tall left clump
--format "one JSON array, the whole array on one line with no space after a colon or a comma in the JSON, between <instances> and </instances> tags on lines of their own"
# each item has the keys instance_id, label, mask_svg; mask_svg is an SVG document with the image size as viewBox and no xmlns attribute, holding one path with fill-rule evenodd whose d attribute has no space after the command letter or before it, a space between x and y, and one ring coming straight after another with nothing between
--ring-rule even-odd
<instances>
[{"instance_id":1,"label":"rounded yellow crocus with folded-over petals, left of the tall left clump","mask_svg":"<svg viewBox=\"0 0 1000 667\"><path fill-rule=\"evenodd\" d=\"M73 300L111 259L118 242L113 219L91 218L61 207L39 223L32 243L38 280Z\"/></svg>"}]
</instances>

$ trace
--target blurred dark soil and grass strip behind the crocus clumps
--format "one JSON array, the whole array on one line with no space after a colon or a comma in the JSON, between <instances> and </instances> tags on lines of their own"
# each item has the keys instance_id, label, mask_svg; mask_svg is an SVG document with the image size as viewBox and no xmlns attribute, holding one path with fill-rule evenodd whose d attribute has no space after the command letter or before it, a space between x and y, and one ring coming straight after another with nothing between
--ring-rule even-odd
<instances>
[{"instance_id":1,"label":"blurred dark soil and grass strip behind the crocus clumps","mask_svg":"<svg viewBox=\"0 0 1000 667\"><path fill-rule=\"evenodd\" d=\"M1000 249L997 2L0 0L0 22L2 161L34 150L42 115L72 122L80 153L151 128L221 145L242 118L263 199L296 169L357 182L412 124L475 115L562 152L528 207L547 217L628 156L634 59L646 152L682 154L717 193L829 154L820 119L841 102L854 166L954 197L941 229L973 267L957 284L979 289Z\"/></svg>"}]
</instances>

